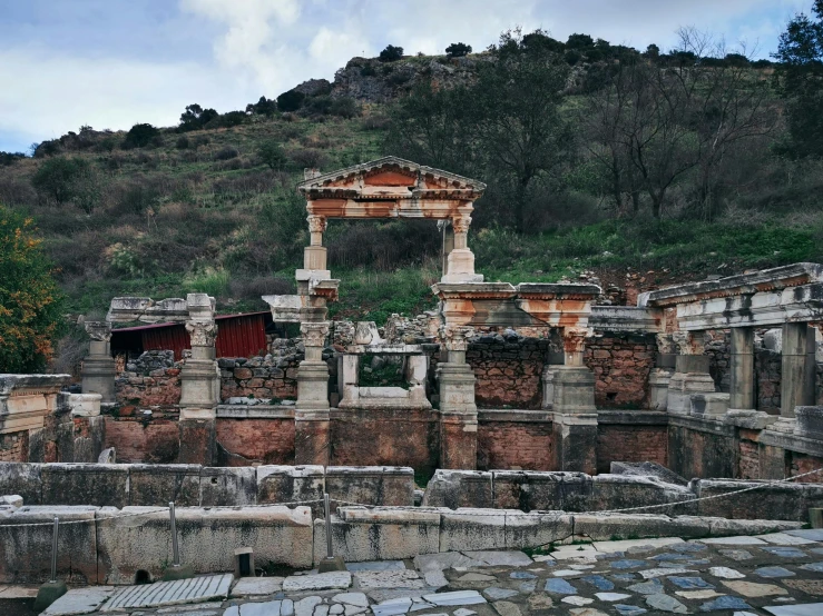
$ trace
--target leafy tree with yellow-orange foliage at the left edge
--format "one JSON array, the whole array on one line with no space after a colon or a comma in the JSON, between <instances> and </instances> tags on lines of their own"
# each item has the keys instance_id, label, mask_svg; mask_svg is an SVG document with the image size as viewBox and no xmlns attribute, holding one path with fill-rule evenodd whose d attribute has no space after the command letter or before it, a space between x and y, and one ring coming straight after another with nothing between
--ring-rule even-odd
<instances>
[{"instance_id":1,"label":"leafy tree with yellow-orange foliage at the left edge","mask_svg":"<svg viewBox=\"0 0 823 616\"><path fill-rule=\"evenodd\" d=\"M51 357L61 295L31 219L0 206L0 372L36 372Z\"/></svg>"}]
</instances>

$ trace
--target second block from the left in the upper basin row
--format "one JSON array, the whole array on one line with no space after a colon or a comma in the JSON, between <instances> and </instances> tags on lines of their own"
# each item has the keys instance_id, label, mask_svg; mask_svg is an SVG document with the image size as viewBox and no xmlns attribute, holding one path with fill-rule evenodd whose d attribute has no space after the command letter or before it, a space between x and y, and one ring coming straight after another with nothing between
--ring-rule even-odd
<instances>
[{"instance_id":1,"label":"second block from the left in the upper basin row","mask_svg":"<svg viewBox=\"0 0 823 616\"><path fill-rule=\"evenodd\" d=\"M42 466L46 505L125 507L129 503L129 467L115 464L47 464Z\"/></svg>"}]
</instances>

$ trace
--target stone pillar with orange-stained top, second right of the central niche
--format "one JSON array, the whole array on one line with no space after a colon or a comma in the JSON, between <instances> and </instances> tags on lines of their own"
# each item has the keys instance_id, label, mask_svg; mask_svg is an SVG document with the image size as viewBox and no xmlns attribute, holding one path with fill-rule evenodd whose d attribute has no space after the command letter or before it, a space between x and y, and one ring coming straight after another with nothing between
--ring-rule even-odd
<instances>
[{"instance_id":1,"label":"stone pillar with orange-stained top, second right of the central niche","mask_svg":"<svg viewBox=\"0 0 823 616\"><path fill-rule=\"evenodd\" d=\"M597 408L595 375L584 365L590 331L566 328L562 366L553 366L555 465L558 470L597 470Z\"/></svg>"}]
</instances>

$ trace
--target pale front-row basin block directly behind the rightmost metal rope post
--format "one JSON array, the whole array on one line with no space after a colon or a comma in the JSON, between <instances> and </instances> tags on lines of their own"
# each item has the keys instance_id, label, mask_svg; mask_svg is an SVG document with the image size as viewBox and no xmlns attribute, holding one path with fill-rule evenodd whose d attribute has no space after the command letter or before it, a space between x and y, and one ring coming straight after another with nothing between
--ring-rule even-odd
<instances>
[{"instance_id":1,"label":"pale front-row basin block directly behind the rightmost metal rope post","mask_svg":"<svg viewBox=\"0 0 823 616\"><path fill-rule=\"evenodd\" d=\"M332 516L332 549L346 563L398 560L440 549L439 509L339 507ZM325 520L314 520L314 563L326 556Z\"/></svg>"}]
</instances>

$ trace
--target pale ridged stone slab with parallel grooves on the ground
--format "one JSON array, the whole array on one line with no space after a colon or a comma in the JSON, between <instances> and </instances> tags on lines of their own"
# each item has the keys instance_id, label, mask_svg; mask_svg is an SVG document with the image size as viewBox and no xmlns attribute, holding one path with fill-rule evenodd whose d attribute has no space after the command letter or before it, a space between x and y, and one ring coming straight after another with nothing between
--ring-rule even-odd
<instances>
[{"instance_id":1,"label":"pale ridged stone slab with parallel grooves on the ground","mask_svg":"<svg viewBox=\"0 0 823 616\"><path fill-rule=\"evenodd\" d=\"M233 579L232 574L224 574L127 586L106 602L101 612L225 599L232 588Z\"/></svg>"}]
</instances>

